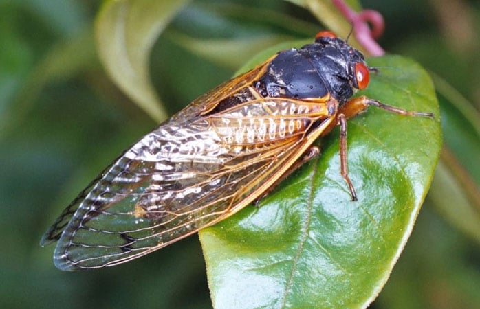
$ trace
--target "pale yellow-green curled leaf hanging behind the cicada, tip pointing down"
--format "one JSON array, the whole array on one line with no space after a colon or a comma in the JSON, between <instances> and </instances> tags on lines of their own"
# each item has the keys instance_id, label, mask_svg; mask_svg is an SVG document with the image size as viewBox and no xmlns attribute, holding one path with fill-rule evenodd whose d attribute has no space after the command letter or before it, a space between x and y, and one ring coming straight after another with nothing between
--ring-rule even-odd
<instances>
[{"instance_id":1,"label":"pale yellow-green curled leaf hanging behind the cicada, tip pointing down","mask_svg":"<svg viewBox=\"0 0 480 309\"><path fill-rule=\"evenodd\" d=\"M111 0L96 20L98 54L118 87L158 122L166 119L149 76L157 36L188 0Z\"/></svg>"}]
</instances>

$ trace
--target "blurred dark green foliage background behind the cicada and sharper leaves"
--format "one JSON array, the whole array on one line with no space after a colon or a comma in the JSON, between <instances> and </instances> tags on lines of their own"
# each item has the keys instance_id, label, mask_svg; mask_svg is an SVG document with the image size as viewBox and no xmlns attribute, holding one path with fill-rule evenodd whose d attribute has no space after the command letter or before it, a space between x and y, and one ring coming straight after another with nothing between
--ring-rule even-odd
<instances>
[{"instance_id":1,"label":"blurred dark green foliage background behind the cicada and sharper leaves","mask_svg":"<svg viewBox=\"0 0 480 309\"><path fill-rule=\"evenodd\" d=\"M388 52L433 73L450 150L371 308L480 308L480 4L362 5L384 16L380 44ZM196 236L79 273L58 271L54 247L39 247L76 194L156 126L100 65L99 8L93 0L0 1L0 307L210 308ZM261 49L312 37L320 27L308 10L286 1L191 1L155 41L153 84L171 115ZM446 194L451 188L458 195Z\"/></svg>"}]
</instances>

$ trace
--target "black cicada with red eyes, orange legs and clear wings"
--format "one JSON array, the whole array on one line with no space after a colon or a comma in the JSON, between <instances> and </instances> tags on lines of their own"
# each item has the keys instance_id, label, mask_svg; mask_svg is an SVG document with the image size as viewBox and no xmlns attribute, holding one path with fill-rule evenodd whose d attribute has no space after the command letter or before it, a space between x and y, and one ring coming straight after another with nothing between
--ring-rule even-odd
<instances>
[{"instance_id":1,"label":"black cicada with red eyes, orange legs and clear wings","mask_svg":"<svg viewBox=\"0 0 480 309\"><path fill-rule=\"evenodd\" d=\"M142 137L92 181L47 230L55 265L67 271L133 260L214 225L258 201L318 154L319 137L340 126L347 170L347 119L368 106L364 56L331 32L279 52L201 95Z\"/></svg>"}]
</instances>

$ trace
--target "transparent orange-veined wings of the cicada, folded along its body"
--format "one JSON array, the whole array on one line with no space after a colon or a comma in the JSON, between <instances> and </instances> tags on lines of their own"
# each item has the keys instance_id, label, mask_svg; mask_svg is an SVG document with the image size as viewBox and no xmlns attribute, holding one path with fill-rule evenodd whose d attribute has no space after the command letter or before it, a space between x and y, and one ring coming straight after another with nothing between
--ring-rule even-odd
<instances>
[{"instance_id":1,"label":"transparent orange-veined wings of the cicada, folded along its body","mask_svg":"<svg viewBox=\"0 0 480 309\"><path fill-rule=\"evenodd\" d=\"M212 113L190 104L124 152L43 236L58 240L56 266L120 264L234 214L331 122L325 104L247 98L247 90L237 95L246 102L223 99L226 108Z\"/></svg>"}]
</instances>

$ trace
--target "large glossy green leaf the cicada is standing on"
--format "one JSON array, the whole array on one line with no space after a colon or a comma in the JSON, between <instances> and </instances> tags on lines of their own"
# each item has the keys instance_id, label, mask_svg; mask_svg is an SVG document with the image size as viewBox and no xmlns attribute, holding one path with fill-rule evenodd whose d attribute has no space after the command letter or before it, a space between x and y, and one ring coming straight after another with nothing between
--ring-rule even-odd
<instances>
[{"instance_id":1,"label":"large glossy green leaf the cicada is standing on","mask_svg":"<svg viewBox=\"0 0 480 309\"><path fill-rule=\"evenodd\" d=\"M433 84L419 65L400 56L369 65L384 69L359 94L435 120L370 108L349 121L357 202L340 176L337 129L258 208L202 230L215 308L364 308L380 293L424 201L441 133Z\"/></svg>"}]
</instances>

